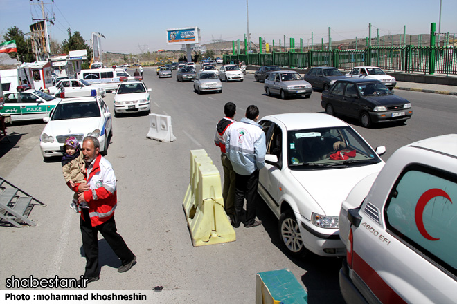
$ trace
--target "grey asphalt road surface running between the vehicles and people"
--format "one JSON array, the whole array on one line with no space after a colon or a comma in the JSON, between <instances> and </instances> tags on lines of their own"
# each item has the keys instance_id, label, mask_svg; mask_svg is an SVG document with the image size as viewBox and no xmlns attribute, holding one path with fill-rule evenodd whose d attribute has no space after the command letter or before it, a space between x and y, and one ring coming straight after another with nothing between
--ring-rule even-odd
<instances>
[{"instance_id":1,"label":"grey asphalt road surface running between the vehicles and people","mask_svg":"<svg viewBox=\"0 0 457 304\"><path fill-rule=\"evenodd\" d=\"M129 71L132 72L132 71ZM124 274L105 240L100 240L100 281L94 290L150 291L163 287L156 297L161 303L253 303L256 273L288 268L307 289L309 303L343 303L338 272L341 259L308 254L303 260L289 258L280 245L277 220L265 203L258 206L260 227L236 229L233 243L192 247L182 209L189 182L189 151L205 149L222 172L213 143L215 124L226 102L237 105L240 120L250 104L260 108L260 117L274 113L322 112L321 93L310 99L281 100L267 97L263 84L253 75L244 82L223 83L221 94L197 95L192 82L157 79L155 68L144 68L145 84L152 88L152 112L172 117L174 142L147 139L148 117L113 118L107 159L118 180L118 231L138 257ZM386 124L364 129L355 120L344 119L373 146L386 146L388 157L400 146L427 137L456 133L457 97L396 91L413 104L413 118L397 126ZM113 112L111 93L105 97ZM30 218L36 227L0 227L0 282L19 278L78 278L84 270L78 215L69 208L71 192L62 178L60 161L43 162L39 134L44 123L21 123L8 128L10 140L0 142L0 176L21 187L46 207L34 207ZM5 289L0 285L0 289ZM323 301L323 299L325 299Z\"/></svg>"}]
</instances>

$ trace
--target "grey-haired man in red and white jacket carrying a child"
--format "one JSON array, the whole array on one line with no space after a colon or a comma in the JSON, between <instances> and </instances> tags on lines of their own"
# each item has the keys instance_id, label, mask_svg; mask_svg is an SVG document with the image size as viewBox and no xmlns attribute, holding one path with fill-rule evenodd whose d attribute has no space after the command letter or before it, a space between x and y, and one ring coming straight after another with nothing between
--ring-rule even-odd
<instances>
[{"instance_id":1,"label":"grey-haired man in red and white jacket carrying a child","mask_svg":"<svg viewBox=\"0 0 457 304\"><path fill-rule=\"evenodd\" d=\"M127 272L135 264L136 256L117 233L114 209L117 205L116 176L111 164L100 155L96 137L87 136L82 142L82 155L86 163L87 184L75 184L79 202L87 202L89 209L82 209L80 228L82 247L86 255L86 283L100 278L98 266L98 231L114 253L120 258L118 272Z\"/></svg>"}]
</instances>

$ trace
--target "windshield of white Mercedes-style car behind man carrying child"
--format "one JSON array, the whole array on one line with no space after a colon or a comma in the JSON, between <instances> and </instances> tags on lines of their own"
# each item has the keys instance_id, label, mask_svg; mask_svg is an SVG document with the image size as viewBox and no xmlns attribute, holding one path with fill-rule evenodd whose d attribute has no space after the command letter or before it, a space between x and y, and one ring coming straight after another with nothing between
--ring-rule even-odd
<instances>
[{"instance_id":1,"label":"windshield of white Mercedes-style car behind man carrying child","mask_svg":"<svg viewBox=\"0 0 457 304\"><path fill-rule=\"evenodd\" d=\"M71 102L57 104L51 120L73 120L76 118L100 117L97 102Z\"/></svg>"}]
</instances>

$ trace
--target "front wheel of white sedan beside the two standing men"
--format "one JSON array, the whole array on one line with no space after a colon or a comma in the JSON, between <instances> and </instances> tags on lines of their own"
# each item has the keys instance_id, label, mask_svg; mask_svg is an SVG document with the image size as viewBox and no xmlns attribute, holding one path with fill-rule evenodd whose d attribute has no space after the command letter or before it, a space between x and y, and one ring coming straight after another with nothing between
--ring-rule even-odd
<instances>
[{"instance_id":1,"label":"front wheel of white sedan beside the two standing men","mask_svg":"<svg viewBox=\"0 0 457 304\"><path fill-rule=\"evenodd\" d=\"M292 210L287 210L281 214L278 229L279 236L287 251L289 251L289 254L297 258L305 256L307 249L301 240L300 227L298 227L298 222Z\"/></svg>"}]
</instances>

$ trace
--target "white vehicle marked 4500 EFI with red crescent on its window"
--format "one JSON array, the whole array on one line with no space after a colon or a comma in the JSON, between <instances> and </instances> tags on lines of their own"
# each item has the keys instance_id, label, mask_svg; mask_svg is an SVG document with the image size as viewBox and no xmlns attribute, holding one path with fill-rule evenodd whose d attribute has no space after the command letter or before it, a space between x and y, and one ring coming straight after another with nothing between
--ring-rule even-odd
<instances>
[{"instance_id":1,"label":"white vehicle marked 4500 EFI with red crescent on its window","mask_svg":"<svg viewBox=\"0 0 457 304\"><path fill-rule=\"evenodd\" d=\"M457 134L408 144L343 201L346 303L456 303Z\"/></svg>"}]
</instances>

